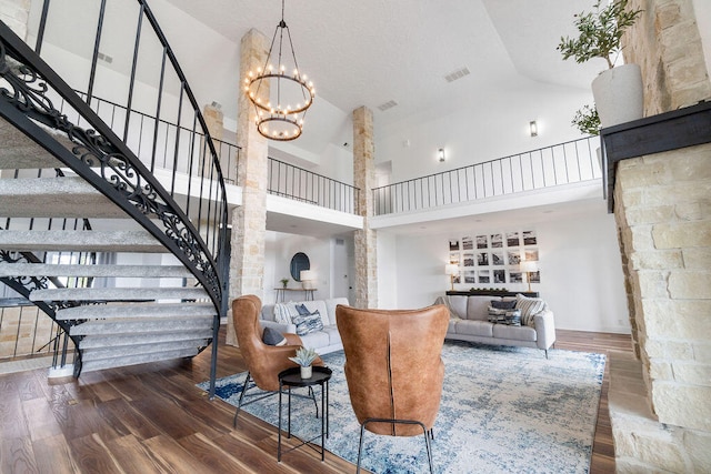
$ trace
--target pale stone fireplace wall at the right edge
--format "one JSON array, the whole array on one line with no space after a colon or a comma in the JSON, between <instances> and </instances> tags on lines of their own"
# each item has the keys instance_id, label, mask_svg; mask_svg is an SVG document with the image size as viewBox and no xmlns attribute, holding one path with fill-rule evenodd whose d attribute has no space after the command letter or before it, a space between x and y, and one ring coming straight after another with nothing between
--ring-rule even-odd
<instances>
[{"instance_id":1,"label":"pale stone fireplace wall at the right edge","mask_svg":"<svg viewBox=\"0 0 711 474\"><path fill-rule=\"evenodd\" d=\"M711 99L692 0L630 3L644 10L624 57L642 68L645 117ZM705 117L685 127L711 142ZM639 360L610 361L618 472L711 472L711 143L682 147L620 161L608 196Z\"/></svg>"}]
</instances>

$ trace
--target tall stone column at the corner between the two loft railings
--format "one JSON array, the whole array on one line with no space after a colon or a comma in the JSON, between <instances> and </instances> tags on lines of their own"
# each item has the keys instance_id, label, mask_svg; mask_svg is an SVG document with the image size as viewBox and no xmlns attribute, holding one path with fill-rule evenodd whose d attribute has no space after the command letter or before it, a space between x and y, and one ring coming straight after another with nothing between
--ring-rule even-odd
<instances>
[{"instance_id":1,"label":"tall stone column at the corner between the two loft railings","mask_svg":"<svg viewBox=\"0 0 711 474\"><path fill-rule=\"evenodd\" d=\"M378 236L370 229L373 215L375 186L375 147L373 140L373 112L361 107L353 111L353 181L360 190L358 213L363 229L356 231L356 306L378 307Z\"/></svg>"}]
</instances>

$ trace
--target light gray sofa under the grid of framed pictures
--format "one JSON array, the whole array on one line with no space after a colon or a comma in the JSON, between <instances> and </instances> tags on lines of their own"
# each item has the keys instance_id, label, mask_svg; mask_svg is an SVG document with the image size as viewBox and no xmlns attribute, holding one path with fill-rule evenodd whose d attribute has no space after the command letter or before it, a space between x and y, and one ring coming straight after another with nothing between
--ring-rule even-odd
<instances>
[{"instance_id":1,"label":"light gray sofa under the grid of framed pictures","mask_svg":"<svg viewBox=\"0 0 711 474\"><path fill-rule=\"evenodd\" d=\"M534 314L522 314L521 325L489 322L489 306L492 301L517 301L518 309L527 310L531 300L523 295L445 295L435 303L445 304L450 310L445 339L478 342L483 344L519 345L538 347L545 352L555 342L553 312L543 302L543 307ZM540 301L540 299L538 299ZM538 303L533 302L533 303ZM540 306L540 303L538 304ZM535 311L535 309L533 309ZM528 323L528 324L527 324Z\"/></svg>"}]
</instances>

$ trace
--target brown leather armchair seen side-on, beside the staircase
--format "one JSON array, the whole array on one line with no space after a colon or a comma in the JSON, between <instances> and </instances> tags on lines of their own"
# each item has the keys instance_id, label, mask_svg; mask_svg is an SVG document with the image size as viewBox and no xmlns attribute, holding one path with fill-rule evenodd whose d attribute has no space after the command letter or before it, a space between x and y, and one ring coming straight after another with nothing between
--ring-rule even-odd
<instances>
[{"instance_id":1,"label":"brown leather armchair seen side-on, beside the staircase","mask_svg":"<svg viewBox=\"0 0 711 474\"><path fill-rule=\"evenodd\" d=\"M302 345L301 337L289 333L283 334L287 339L284 345L264 344L262 342L263 330L259 324L261 310L262 302L253 294L239 296L232 301L232 321L234 322L237 342L248 370L237 412L234 413L233 424L236 426L237 416L242 406L279 393L279 373L297 366L289 357L294 356L297 349ZM322 364L321 357L313 362L313 365ZM244 394L250 387L250 380L254 381L254 384L262 391L271 393L261 394L262 396L243 403Z\"/></svg>"}]
</instances>

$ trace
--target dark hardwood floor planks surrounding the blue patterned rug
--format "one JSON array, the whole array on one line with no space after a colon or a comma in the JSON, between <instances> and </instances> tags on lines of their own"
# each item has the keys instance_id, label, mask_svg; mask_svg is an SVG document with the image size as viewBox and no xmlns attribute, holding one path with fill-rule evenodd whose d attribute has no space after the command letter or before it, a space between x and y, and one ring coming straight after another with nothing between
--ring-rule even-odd
<instances>
[{"instance_id":1,"label":"dark hardwood floor planks surrounding the blue patterned rug","mask_svg":"<svg viewBox=\"0 0 711 474\"><path fill-rule=\"evenodd\" d=\"M223 344L218 376L244 371L239 349ZM619 334L558 331L557 349L630 352ZM209 379L210 353L191 361L48 381L47 370L0 375L0 473L342 473L356 466L300 448L277 463L277 430L210 401L194 384ZM614 472L602 386L590 472Z\"/></svg>"}]
</instances>

